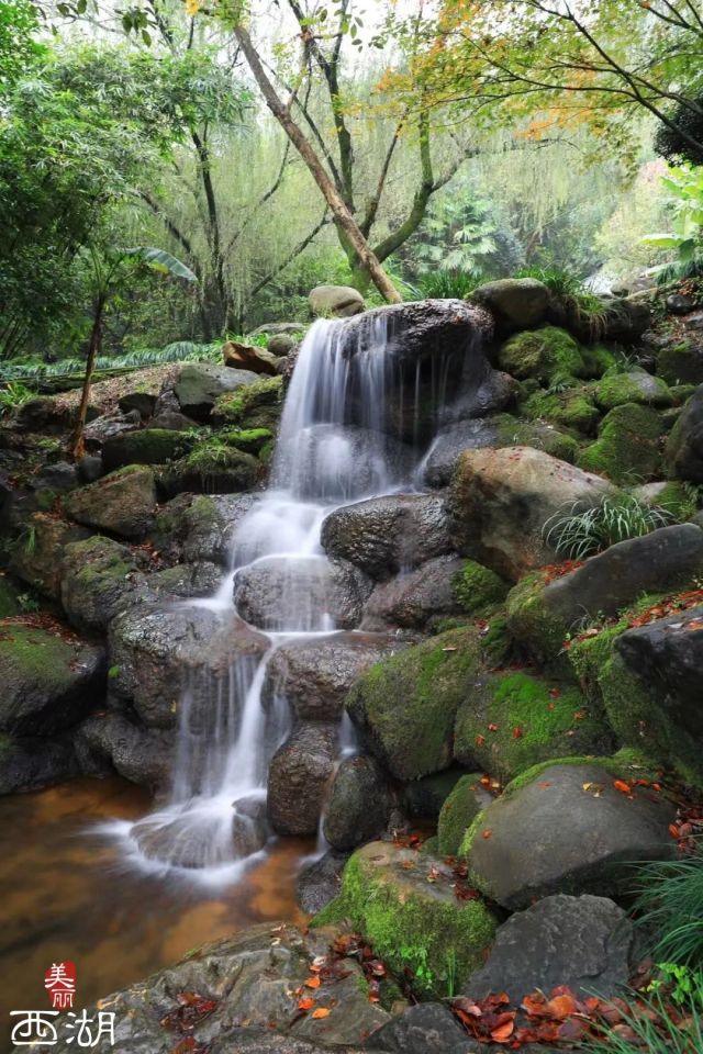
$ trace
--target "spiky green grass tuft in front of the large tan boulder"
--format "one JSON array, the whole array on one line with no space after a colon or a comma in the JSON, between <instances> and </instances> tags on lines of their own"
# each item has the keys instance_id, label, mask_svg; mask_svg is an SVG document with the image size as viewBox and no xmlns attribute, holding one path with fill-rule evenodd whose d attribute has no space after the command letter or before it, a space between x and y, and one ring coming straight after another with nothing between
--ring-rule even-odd
<instances>
[{"instance_id":1,"label":"spiky green grass tuft in front of the large tan boulder","mask_svg":"<svg viewBox=\"0 0 703 1054\"><path fill-rule=\"evenodd\" d=\"M604 497L591 508L579 503L555 513L543 528L544 539L560 557L583 560L618 541L639 538L673 523L672 514L632 495Z\"/></svg>"}]
</instances>

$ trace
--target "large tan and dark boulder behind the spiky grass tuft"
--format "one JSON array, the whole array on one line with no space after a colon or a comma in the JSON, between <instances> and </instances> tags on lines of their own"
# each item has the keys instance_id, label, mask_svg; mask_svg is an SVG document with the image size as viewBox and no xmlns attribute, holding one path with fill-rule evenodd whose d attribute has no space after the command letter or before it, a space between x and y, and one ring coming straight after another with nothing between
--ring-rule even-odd
<instances>
[{"instance_id":1,"label":"large tan and dark boulder behind the spiky grass tuft","mask_svg":"<svg viewBox=\"0 0 703 1054\"><path fill-rule=\"evenodd\" d=\"M598 475L535 450L467 450L447 502L455 548L503 578L516 580L550 563L544 537L550 516L574 503L589 508L612 487Z\"/></svg>"}]
</instances>

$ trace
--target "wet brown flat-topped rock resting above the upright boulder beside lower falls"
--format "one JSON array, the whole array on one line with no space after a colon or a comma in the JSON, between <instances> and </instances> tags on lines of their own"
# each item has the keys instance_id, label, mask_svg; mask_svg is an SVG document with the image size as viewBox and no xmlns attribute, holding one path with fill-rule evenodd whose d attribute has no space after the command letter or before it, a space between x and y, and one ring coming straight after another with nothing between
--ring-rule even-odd
<instances>
[{"instance_id":1,"label":"wet brown flat-topped rock resting above the upright boulder beside lower falls","mask_svg":"<svg viewBox=\"0 0 703 1054\"><path fill-rule=\"evenodd\" d=\"M403 647L394 638L358 632L289 641L271 655L264 697L284 698L301 721L337 721L356 679Z\"/></svg>"}]
</instances>

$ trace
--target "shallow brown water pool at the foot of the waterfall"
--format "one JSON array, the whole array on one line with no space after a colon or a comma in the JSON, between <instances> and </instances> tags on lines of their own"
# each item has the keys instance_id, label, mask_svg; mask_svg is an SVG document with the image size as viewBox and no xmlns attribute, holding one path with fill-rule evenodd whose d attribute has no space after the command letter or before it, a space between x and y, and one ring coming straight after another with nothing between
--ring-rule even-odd
<instances>
[{"instance_id":1,"label":"shallow brown water pool at the foot of the waterfall","mask_svg":"<svg viewBox=\"0 0 703 1054\"><path fill-rule=\"evenodd\" d=\"M174 885L125 870L116 844L90 830L136 819L149 804L118 778L0 798L0 1050L10 1010L51 1009L52 963L76 964L74 1007L82 1008L245 926L303 921L294 886L310 841L279 842L225 889Z\"/></svg>"}]
</instances>

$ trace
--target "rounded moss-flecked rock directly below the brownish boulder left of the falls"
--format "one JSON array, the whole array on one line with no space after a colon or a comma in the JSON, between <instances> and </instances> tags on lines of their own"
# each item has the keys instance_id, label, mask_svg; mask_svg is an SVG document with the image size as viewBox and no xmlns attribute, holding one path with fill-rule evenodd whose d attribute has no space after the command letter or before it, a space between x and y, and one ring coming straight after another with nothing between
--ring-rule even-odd
<instances>
[{"instance_id":1,"label":"rounded moss-flecked rock directly below the brownish boulder left of the falls","mask_svg":"<svg viewBox=\"0 0 703 1054\"><path fill-rule=\"evenodd\" d=\"M126 546L98 535L64 549L62 605L71 626L102 632L148 592L146 575Z\"/></svg>"}]
</instances>

